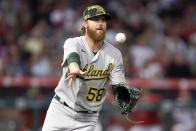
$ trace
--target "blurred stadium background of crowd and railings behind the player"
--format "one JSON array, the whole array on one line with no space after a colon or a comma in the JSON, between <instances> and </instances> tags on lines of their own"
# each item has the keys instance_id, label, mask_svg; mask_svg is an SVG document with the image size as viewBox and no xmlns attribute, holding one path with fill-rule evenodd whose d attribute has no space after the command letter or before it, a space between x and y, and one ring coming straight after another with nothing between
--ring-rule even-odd
<instances>
[{"instance_id":1,"label":"blurred stadium background of crowd and railings behind the player","mask_svg":"<svg viewBox=\"0 0 196 131\"><path fill-rule=\"evenodd\" d=\"M121 50L128 84L144 89L129 114L144 123L120 115L109 91L97 131L195 131L195 0L0 0L0 131L41 130L64 41L81 35L93 4L112 15L106 40Z\"/></svg>"}]
</instances>

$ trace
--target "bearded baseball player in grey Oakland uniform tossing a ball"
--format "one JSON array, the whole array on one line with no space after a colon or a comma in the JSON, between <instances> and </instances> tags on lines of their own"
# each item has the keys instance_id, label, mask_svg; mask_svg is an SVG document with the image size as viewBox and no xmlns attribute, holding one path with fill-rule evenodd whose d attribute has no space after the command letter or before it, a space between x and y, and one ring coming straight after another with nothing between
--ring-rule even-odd
<instances>
[{"instance_id":1,"label":"bearded baseball player in grey Oakland uniform tossing a ball","mask_svg":"<svg viewBox=\"0 0 196 131\"><path fill-rule=\"evenodd\" d=\"M140 92L136 88L126 92L130 88L125 82L122 55L104 40L110 19L101 6L87 7L81 28L84 36L65 41L63 74L55 88L43 131L93 131L109 83L122 114L127 114L136 104Z\"/></svg>"}]
</instances>

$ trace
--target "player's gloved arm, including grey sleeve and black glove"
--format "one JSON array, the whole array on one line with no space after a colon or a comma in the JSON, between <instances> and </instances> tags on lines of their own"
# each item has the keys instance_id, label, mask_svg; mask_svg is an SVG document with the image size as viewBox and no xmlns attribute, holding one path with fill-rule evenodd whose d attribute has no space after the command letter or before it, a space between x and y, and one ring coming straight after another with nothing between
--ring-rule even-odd
<instances>
[{"instance_id":1,"label":"player's gloved arm, including grey sleeve and black glove","mask_svg":"<svg viewBox=\"0 0 196 131\"><path fill-rule=\"evenodd\" d=\"M128 114L136 105L142 91L138 88L126 85L121 53L118 56L119 57L115 60L114 67L110 73L110 83L112 85L114 96L121 108L121 113Z\"/></svg>"}]
</instances>

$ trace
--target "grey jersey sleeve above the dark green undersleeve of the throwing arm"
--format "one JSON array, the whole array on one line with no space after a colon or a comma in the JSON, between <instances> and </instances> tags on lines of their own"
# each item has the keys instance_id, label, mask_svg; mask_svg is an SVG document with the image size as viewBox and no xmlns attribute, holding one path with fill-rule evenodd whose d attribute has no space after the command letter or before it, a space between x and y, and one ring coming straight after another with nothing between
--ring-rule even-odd
<instances>
[{"instance_id":1,"label":"grey jersey sleeve above the dark green undersleeve of the throwing arm","mask_svg":"<svg viewBox=\"0 0 196 131\"><path fill-rule=\"evenodd\" d=\"M64 55L63 55L63 62L61 66L67 65L67 57L70 53L75 52L79 55L79 44L72 38L69 38L65 41L63 45L63 50L64 50Z\"/></svg>"}]
</instances>

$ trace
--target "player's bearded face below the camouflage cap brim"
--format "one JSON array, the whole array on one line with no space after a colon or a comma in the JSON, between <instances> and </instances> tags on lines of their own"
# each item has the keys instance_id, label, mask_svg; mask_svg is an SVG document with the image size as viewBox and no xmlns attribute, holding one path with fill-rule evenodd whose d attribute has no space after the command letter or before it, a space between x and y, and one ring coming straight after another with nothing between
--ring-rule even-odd
<instances>
[{"instance_id":1,"label":"player's bearded face below the camouflage cap brim","mask_svg":"<svg viewBox=\"0 0 196 131\"><path fill-rule=\"evenodd\" d=\"M103 41L105 39L106 32L106 22L90 20L86 23L86 33L89 37L91 37L94 41Z\"/></svg>"}]
</instances>

